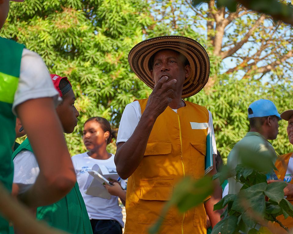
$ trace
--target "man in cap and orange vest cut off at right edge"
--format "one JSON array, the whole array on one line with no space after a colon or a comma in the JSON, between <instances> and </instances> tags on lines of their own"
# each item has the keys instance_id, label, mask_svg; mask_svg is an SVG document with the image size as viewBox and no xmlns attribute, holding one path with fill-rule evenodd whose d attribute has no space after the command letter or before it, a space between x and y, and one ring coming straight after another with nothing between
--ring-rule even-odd
<instances>
[{"instance_id":1,"label":"man in cap and orange vest cut off at right edge","mask_svg":"<svg viewBox=\"0 0 293 234\"><path fill-rule=\"evenodd\" d=\"M288 121L287 133L289 142L293 145L293 110L284 111L281 114L281 118ZM286 199L293 204L293 155L292 152L288 154L283 154L278 157L275 166L277 168L276 175L279 180L286 182L288 185L284 188L284 195ZM269 180L268 183L275 181ZM280 215L277 219L289 230L293 228L293 217L289 216L284 218L284 215ZM282 234L288 233L284 228L281 228L280 225L276 222L273 222L273 233Z\"/></svg>"}]
</instances>

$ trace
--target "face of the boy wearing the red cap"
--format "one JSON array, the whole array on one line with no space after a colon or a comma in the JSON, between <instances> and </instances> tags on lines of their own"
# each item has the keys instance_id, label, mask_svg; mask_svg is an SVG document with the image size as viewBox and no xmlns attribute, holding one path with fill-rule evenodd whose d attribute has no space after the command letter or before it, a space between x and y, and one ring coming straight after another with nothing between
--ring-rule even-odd
<instances>
[{"instance_id":1,"label":"face of the boy wearing the red cap","mask_svg":"<svg viewBox=\"0 0 293 234\"><path fill-rule=\"evenodd\" d=\"M78 122L79 112L74 106L74 101L75 96L71 89L63 96L63 102L56 108L64 133L72 133Z\"/></svg>"}]
</instances>

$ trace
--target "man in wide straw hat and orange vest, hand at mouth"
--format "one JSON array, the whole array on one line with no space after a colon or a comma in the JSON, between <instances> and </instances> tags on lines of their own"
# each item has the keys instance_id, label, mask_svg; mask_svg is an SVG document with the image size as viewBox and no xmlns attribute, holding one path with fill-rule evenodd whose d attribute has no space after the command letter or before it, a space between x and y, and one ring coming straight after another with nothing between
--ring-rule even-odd
<instances>
[{"instance_id":1,"label":"man in wide straw hat and orange vest, hand at mouth","mask_svg":"<svg viewBox=\"0 0 293 234\"><path fill-rule=\"evenodd\" d=\"M155 37L137 44L128 55L132 70L153 89L149 98L125 107L117 138L115 164L128 179L125 233L147 233L157 222L175 184L185 175L204 176L207 134L212 115L204 107L183 101L208 81L207 52L188 37ZM215 156L214 156L215 157ZM215 158L214 165L215 165ZM211 174L216 169L213 168ZM206 211L214 226L220 219L213 205L221 195L185 213L171 208L161 233L206 233Z\"/></svg>"}]
</instances>

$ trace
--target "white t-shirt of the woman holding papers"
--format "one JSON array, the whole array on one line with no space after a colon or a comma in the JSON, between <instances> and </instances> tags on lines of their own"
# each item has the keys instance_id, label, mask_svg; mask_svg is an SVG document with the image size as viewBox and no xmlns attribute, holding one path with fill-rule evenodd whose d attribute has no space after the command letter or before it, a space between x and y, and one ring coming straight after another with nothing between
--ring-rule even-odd
<instances>
[{"instance_id":1,"label":"white t-shirt of the woman holding papers","mask_svg":"<svg viewBox=\"0 0 293 234\"><path fill-rule=\"evenodd\" d=\"M76 173L76 179L78 182L79 190L85 201L86 210L89 217L92 219L106 219L116 220L121 227L124 227L122 221L122 209L118 205L118 197L111 196L110 199L101 197L90 196L85 194L84 186L89 177L88 170L91 170L93 165L105 165L107 167L116 168L114 163L114 154L108 159L95 159L90 157L87 152L72 156L72 163Z\"/></svg>"}]
</instances>

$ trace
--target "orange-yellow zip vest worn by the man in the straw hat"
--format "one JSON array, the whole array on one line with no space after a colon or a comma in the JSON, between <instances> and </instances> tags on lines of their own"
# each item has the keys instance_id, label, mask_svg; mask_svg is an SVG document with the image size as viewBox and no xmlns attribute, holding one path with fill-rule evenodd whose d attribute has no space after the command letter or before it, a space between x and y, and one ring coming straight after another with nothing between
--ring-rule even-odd
<instances>
[{"instance_id":1,"label":"orange-yellow zip vest worn by the man in the straw hat","mask_svg":"<svg viewBox=\"0 0 293 234\"><path fill-rule=\"evenodd\" d=\"M204 176L208 110L186 101L176 114L169 106L157 118L143 160L128 178L125 234L148 233L157 222L165 201L183 176ZM141 113L147 99L139 100ZM198 124L204 123L204 124ZM199 129L204 128L205 129ZM171 208L160 233L206 233L204 205L183 213Z\"/></svg>"}]
</instances>

